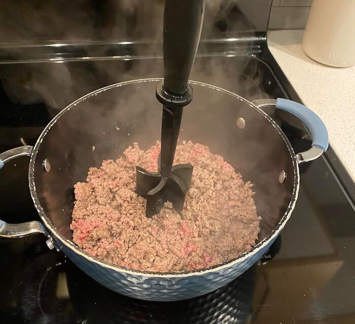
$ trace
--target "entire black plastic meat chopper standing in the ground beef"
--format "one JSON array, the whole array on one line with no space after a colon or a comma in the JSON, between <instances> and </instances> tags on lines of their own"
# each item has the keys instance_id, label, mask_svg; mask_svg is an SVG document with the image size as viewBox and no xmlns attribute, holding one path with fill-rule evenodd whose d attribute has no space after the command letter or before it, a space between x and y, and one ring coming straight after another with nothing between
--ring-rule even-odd
<instances>
[{"instance_id":1,"label":"entire black plastic meat chopper standing in the ground beef","mask_svg":"<svg viewBox=\"0 0 355 324\"><path fill-rule=\"evenodd\" d=\"M147 217L159 213L166 201L181 213L190 187L193 166L172 164L183 109L193 97L188 79L201 35L203 9L204 0L165 0L164 81L156 88L156 98L163 104L158 172L135 168L136 193L147 199Z\"/></svg>"}]
</instances>

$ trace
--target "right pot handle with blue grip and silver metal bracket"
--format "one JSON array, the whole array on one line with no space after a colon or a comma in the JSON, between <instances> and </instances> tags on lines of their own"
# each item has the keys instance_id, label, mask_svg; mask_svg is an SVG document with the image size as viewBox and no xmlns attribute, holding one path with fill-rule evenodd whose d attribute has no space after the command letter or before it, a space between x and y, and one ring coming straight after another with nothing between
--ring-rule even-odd
<instances>
[{"instance_id":1,"label":"right pot handle with blue grip and silver metal bracket","mask_svg":"<svg viewBox=\"0 0 355 324\"><path fill-rule=\"evenodd\" d=\"M327 150L329 145L327 127L317 114L306 106L282 98L276 100L276 108L298 117L306 125L312 137L312 147L297 154L298 164L314 160Z\"/></svg>"}]
</instances>

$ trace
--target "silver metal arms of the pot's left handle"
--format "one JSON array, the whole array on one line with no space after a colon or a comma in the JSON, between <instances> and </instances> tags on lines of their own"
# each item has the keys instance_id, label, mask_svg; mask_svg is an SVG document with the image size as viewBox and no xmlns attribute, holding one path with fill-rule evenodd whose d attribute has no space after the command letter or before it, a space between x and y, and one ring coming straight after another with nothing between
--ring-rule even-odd
<instances>
[{"instance_id":1,"label":"silver metal arms of the pot's left handle","mask_svg":"<svg viewBox=\"0 0 355 324\"><path fill-rule=\"evenodd\" d=\"M32 146L20 146L3 152L0 154L0 169L12 159L20 156L30 156L32 153ZM43 224L37 220L27 221L19 224L8 224L0 219L0 237L17 238L27 235L42 233L45 234L49 240L47 245L50 248L54 247L54 242L49 233L45 230ZM53 247L52 247L53 246Z\"/></svg>"}]
</instances>

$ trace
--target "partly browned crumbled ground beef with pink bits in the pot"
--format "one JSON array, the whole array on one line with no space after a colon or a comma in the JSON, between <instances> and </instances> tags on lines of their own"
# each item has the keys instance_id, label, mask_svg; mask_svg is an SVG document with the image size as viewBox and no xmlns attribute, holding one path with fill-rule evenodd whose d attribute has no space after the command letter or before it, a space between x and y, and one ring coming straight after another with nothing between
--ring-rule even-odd
<instances>
[{"instance_id":1,"label":"partly browned crumbled ground beef with pink bits in the pot","mask_svg":"<svg viewBox=\"0 0 355 324\"><path fill-rule=\"evenodd\" d=\"M174 163L194 166L183 215L167 202L159 214L145 216L134 167L156 171L159 152L159 142L147 151L134 143L116 161L89 169L87 182L75 185L74 242L113 264L157 272L201 269L250 249L260 221L252 184L201 144L176 148Z\"/></svg>"}]
</instances>

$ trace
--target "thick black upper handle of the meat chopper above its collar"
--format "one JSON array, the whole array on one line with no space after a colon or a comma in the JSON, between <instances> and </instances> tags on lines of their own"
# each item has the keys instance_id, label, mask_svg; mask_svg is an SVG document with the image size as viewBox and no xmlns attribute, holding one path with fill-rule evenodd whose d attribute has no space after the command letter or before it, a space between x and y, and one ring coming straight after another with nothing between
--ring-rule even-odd
<instances>
[{"instance_id":1,"label":"thick black upper handle of the meat chopper above its collar","mask_svg":"<svg viewBox=\"0 0 355 324\"><path fill-rule=\"evenodd\" d=\"M200 40L204 0L165 0L164 84L168 94L183 96Z\"/></svg>"}]
</instances>

